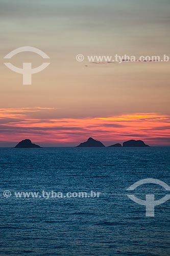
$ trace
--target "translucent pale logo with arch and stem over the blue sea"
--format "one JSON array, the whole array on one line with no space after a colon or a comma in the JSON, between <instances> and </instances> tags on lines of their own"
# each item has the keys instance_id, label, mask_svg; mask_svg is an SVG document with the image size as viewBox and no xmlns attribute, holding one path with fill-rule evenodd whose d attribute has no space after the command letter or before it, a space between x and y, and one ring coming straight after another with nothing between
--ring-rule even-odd
<instances>
[{"instance_id":1,"label":"translucent pale logo with arch and stem over the blue sea","mask_svg":"<svg viewBox=\"0 0 170 256\"><path fill-rule=\"evenodd\" d=\"M170 191L170 187L166 183L164 183L163 181L157 180L157 179L143 179L143 180L137 181L133 185L131 185L127 190L131 191L140 185L148 184L148 183L160 185L163 188L165 188L165 190ZM146 207L146 216L147 217L154 217L155 216L155 206L163 204L167 200L170 199L170 195L166 195L159 200L155 200L155 195L153 195L153 194L146 195L146 200L141 200L141 199L135 197L134 195L127 195L127 196L135 203L144 205Z\"/></svg>"}]
</instances>

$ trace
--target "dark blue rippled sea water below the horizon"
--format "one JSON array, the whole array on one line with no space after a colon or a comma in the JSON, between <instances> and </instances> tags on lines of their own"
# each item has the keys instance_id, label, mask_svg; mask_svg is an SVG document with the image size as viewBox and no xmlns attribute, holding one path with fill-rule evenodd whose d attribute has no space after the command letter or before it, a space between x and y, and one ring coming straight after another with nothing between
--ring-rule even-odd
<instances>
[{"instance_id":1,"label":"dark blue rippled sea water below the horizon","mask_svg":"<svg viewBox=\"0 0 170 256\"><path fill-rule=\"evenodd\" d=\"M154 218L146 217L145 206L126 190L147 178L170 185L170 147L0 148L0 157L1 256L170 255L170 200L155 207ZM5 190L11 197L3 196ZM15 197L42 190L102 194ZM145 184L133 193L157 200L168 191Z\"/></svg>"}]
</instances>

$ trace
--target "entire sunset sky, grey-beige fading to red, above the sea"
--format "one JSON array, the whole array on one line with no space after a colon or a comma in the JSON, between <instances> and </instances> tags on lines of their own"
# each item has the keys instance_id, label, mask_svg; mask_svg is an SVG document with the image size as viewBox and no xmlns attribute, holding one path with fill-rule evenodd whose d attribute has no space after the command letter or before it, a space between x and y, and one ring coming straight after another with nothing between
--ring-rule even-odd
<instances>
[{"instance_id":1,"label":"entire sunset sky, grey-beige fading to red, above the sea","mask_svg":"<svg viewBox=\"0 0 170 256\"><path fill-rule=\"evenodd\" d=\"M169 62L76 61L78 54L170 56L169 11L169 0L0 0L0 146L22 139L75 146L88 137L170 145ZM4 65L22 46L50 57L30 86ZM10 61L43 62L35 53Z\"/></svg>"}]
</instances>

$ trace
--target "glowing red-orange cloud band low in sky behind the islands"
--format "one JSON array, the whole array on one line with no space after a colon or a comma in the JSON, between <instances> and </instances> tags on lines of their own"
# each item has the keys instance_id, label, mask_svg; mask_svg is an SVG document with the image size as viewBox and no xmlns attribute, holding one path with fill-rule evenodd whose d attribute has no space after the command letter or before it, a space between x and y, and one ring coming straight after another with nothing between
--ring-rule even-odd
<instances>
[{"instance_id":1,"label":"glowing red-orange cloud band low in sky behind the islands","mask_svg":"<svg viewBox=\"0 0 170 256\"><path fill-rule=\"evenodd\" d=\"M23 139L42 146L76 146L88 137L106 145L129 139L141 139L150 145L170 145L170 118L166 115L133 113L80 119L54 116L57 116L55 108L2 109L0 146L12 146Z\"/></svg>"}]
</instances>

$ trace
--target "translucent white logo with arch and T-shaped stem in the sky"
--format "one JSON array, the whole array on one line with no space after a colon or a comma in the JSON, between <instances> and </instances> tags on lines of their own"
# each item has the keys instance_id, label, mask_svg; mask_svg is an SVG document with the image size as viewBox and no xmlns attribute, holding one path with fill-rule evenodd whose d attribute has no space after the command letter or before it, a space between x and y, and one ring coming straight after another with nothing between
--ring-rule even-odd
<instances>
[{"instance_id":1,"label":"translucent white logo with arch and T-shaped stem in the sky","mask_svg":"<svg viewBox=\"0 0 170 256\"><path fill-rule=\"evenodd\" d=\"M43 59L50 59L46 53L42 52L41 50L35 48L35 47L30 47L30 46L25 46L25 47L20 47L17 48L10 53L8 53L4 59L11 59L14 55L17 53L21 52L34 52L40 55ZM4 63L9 69L12 71L22 74L23 75L23 84L29 85L32 84L32 74L38 73L42 70L44 70L48 65L50 65L50 62L43 62L39 67L32 69L32 63L31 62L23 62L23 68L17 68L12 63L10 62L5 62Z\"/></svg>"}]
</instances>

